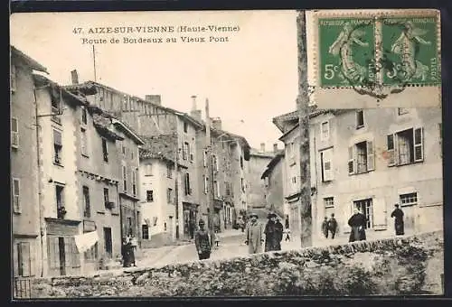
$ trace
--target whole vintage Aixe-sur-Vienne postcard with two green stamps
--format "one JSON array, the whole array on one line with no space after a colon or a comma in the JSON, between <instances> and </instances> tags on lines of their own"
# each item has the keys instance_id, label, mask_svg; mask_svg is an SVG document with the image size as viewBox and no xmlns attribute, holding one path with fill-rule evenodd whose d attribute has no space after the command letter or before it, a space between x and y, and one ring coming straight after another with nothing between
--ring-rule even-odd
<instances>
[{"instance_id":1,"label":"whole vintage Aixe-sur-Vienne postcard with two green stamps","mask_svg":"<svg viewBox=\"0 0 452 307\"><path fill-rule=\"evenodd\" d=\"M436 11L10 24L14 300L444 293Z\"/></svg>"}]
</instances>

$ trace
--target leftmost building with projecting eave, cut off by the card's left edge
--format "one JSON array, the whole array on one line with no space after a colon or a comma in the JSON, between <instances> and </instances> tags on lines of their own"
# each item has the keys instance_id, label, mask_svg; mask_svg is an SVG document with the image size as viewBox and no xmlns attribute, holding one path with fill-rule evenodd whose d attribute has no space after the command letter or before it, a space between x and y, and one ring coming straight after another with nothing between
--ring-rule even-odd
<instances>
[{"instance_id":1,"label":"leftmost building with projecting eave, cut off by the card's left edge","mask_svg":"<svg viewBox=\"0 0 452 307\"><path fill-rule=\"evenodd\" d=\"M14 277L41 276L42 237L33 70L47 70L14 47L11 47L10 69L12 269Z\"/></svg>"}]
</instances>

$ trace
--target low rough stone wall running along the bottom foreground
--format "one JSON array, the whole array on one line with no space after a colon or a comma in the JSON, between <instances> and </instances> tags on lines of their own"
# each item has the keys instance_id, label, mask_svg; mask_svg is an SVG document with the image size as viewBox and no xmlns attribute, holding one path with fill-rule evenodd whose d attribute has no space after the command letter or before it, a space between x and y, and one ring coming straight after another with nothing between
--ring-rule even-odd
<instances>
[{"instance_id":1,"label":"low rough stone wall running along the bottom foreground","mask_svg":"<svg viewBox=\"0 0 452 307\"><path fill-rule=\"evenodd\" d=\"M442 255L442 248L442 232L433 232L227 260L134 268L118 275L39 278L33 281L32 296L428 294L428 261Z\"/></svg>"}]
</instances>

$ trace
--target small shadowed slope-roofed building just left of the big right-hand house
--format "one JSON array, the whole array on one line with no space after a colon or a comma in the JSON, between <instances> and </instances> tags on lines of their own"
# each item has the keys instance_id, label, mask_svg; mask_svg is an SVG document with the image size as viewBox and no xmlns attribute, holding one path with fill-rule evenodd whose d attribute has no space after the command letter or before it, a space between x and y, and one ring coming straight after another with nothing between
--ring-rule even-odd
<instances>
[{"instance_id":1,"label":"small shadowed slope-roofed building just left of the big right-hand house","mask_svg":"<svg viewBox=\"0 0 452 307\"><path fill-rule=\"evenodd\" d=\"M266 170L260 177L264 181L266 208L286 218L284 212L284 185L285 171L284 150L278 150L278 144L274 144L275 157L268 163Z\"/></svg>"}]
</instances>

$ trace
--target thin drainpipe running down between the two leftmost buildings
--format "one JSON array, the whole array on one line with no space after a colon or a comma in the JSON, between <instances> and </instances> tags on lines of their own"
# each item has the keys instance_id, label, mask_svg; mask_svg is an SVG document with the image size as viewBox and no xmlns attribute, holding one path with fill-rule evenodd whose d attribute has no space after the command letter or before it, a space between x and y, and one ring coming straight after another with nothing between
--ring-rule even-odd
<instances>
[{"instance_id":1,"label":"thin drainpipe running down between the two leftmost buildings","mask_svg":"<svg viewBox=\"0 0 452 307\"><path fill-rule=\"evenodd\" d=\"M38 211L39 211L39 237L40 237L40 243L41 243L41 277L43 277L44 274L44 245L43 245L43 237L45 236L45 227L42 220L43 212L42 212L42 201L41 201L41 195L42 195L42 182L39 178L39 172L41 171L41 154L39 152L39 115L38 115L38 99L36 98L36 90L41 88L47 88L49 87L49 84L42 86L40 88L33 88L33 96L34 96L34 114L35 114L35 126L36 126L36 159L37 159L37 166L38 166Z\"/></svg>"}]
</instances>

